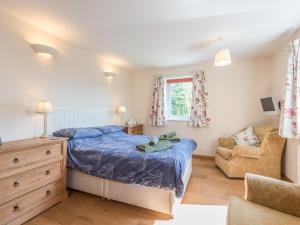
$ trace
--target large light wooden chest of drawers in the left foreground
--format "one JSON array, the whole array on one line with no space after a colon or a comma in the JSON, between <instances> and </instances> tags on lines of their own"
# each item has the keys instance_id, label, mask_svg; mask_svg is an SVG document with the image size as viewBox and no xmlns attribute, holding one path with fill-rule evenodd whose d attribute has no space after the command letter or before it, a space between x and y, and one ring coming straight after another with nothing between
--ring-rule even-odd
<instances>
[{"instance_id":1,"label":"large light wooden chest of drawers in the left foreground","mask_svg":"<svg viewBox=\"0 0 300 225\"><path fill-rule=\"evenodd\" d=\"M67 140L0 145L0 224L22 224L67 198Z\"/></svg>"}]
</instances>

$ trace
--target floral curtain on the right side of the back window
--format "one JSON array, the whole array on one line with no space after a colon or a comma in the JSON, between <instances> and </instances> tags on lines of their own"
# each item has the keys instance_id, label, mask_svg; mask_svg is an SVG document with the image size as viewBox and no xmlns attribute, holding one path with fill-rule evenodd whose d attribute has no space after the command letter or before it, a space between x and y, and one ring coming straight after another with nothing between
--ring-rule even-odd
<instances>
[{"instance_id":1,"label":"floral curtain on the right side of the back window","mask_svg":"<svg viewBox=\"0 0 300 225\"><path fill-rule=\"evenodd\" d=\"M193 76L193 94L190 126L207 127L210 119L207 117L207 92L205 91L206 76L204 71Z\"/></svg>"}]
</instances>

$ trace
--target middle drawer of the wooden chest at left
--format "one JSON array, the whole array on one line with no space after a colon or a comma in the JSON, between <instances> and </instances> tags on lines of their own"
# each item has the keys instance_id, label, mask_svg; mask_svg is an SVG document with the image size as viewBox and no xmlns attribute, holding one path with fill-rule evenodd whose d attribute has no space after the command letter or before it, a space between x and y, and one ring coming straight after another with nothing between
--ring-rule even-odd
<instances>
[{"instance_id":1,"label":"middle drawer of the wooden chest at left","mask_svg":"<svg viewBox=\"0 0 300 225\"><path fill-rule=\"evenodd\" d=\"M38 167L0 180L0 204L62 178L61 162Z\"/></svg>"}]
</instances>

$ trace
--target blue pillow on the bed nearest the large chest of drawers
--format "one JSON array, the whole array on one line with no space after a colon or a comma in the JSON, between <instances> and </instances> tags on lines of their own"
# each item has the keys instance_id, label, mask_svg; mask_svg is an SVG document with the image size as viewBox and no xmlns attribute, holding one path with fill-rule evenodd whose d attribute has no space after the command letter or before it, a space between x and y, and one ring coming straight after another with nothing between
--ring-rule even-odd
<instances>
[{"instance_id":1,"label":"blue pillow on the bed nearest the large chest of drawers","mask_svg":"<svg viewBox=\"0 0 300 225\"><path fill-rule=\"evenodd\" d=\"M81 139L81 138L94 138L103 135L101 130L87 127L87 128L66 128L55 131L53 136L65 137L70 139Z\"/></svg>"}]
</instances>

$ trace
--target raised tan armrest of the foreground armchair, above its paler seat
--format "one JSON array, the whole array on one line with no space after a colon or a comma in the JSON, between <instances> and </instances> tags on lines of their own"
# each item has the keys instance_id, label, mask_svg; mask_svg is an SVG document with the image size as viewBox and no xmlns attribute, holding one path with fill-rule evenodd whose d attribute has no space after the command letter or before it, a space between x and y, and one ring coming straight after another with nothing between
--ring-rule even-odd
<instances>
[{"instance_id":1,"label":"raised tan armrest of the foreground armchair, above its paler seat","mask_svg":"<svg viewBox=\"0 0 300 225\"><path fill-rule=\"evenodd\" d=\"M247 173L245 199L300 217L300 185Z\"/></svg>"}]
</instances>

